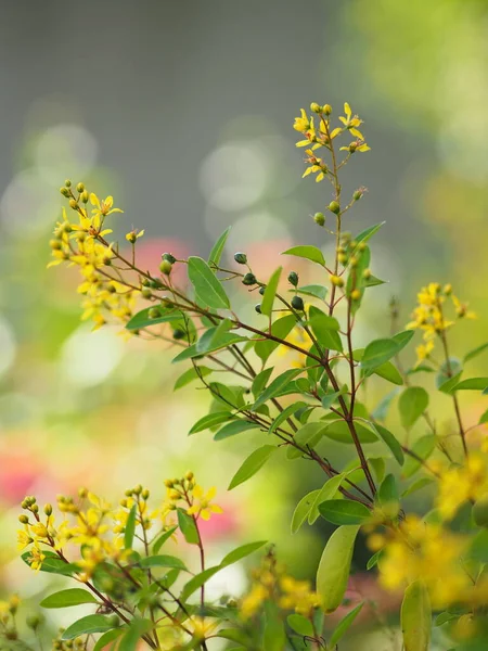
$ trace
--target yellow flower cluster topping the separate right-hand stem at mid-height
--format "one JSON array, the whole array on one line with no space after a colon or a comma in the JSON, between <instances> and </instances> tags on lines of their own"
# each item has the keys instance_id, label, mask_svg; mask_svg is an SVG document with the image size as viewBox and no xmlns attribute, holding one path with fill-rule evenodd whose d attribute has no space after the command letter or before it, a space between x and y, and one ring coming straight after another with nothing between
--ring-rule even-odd
<instances>
[{"instance_id":1,"label":"yellow flower cluster topping the separate right-hand stem at mid-height","mask_svg":"<svg viewBox=\"0 0 488 651\"><path fill-rule=\"evenodd\" d=\"M467 305L454 296L452 285L441 288L438 282L431 282L422 288L416 296L418 304L412 312L412 321L407 323L407 329L419 329L424 333L424 343L416 348L418 363L429 358L434 350L435 337L444 336L446 330L454 324L454 321L446 318L445 304L448 299L451 301L458 319L476 318L476 315L467 309Z\"/></svg>"}]
</instances>

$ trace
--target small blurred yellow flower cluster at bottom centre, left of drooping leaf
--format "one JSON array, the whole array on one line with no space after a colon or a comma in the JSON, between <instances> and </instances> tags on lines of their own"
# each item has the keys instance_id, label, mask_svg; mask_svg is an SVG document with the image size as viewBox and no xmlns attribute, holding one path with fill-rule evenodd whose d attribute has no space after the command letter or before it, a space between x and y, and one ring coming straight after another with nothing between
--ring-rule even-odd
<instances>
[{"instance_id":1,"label":"small blurred yellow flower cluster at bottom centre, left of drooping leaf","mask_svg":"<svg viewBox=\"0 0 488 651\"><path fill-rule=\"evenodd\" d=\"M311 590L309 582L287 575L284 567L277 563L272 551L253 573L251 589L240 604L243 620L253 617L267 600L273 600L283 610L294 610L306 617L311 617L320 605L319 595Z\"/></svg>"}]
</instances>

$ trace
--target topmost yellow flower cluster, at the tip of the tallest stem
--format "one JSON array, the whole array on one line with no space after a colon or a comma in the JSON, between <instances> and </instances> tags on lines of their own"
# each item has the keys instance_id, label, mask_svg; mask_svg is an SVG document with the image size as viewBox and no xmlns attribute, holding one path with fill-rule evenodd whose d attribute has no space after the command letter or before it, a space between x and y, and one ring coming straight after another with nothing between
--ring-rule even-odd
<instances>
[{"instance_id":1,"label":"topmost yellow flower cluster, at the tip of the tallest stem","mask_svg":"<svg viewBox=\"0 0 488 651\"><path fill-rule=\"evenodd\" d=\"M296 146L310 148L306 150L307 157L305 158L305 162L308 164L308 167L304 173L304 177L309 174L317 174L316 181L319 182L322 181L330 171L326 163L313 153L317 149L324 146L328 150L331 150L332 141L344 133L350 133L355 137L355 140L347 146L341 148L341 151L346 151L348 156L355 152L368 152L370 148L364 142L364 137L358 128L361 126L362 120L359 119L357 115L352 114L347 102L344 104L344 115L341 115L338 118L343 126L336 127L335 129L332 129L331 126L332 106L329 104L321 106L313 102L310 105L310 108L316 116L308 116L305 108L300 108L300 116L295 118L293 128L305 136L305 140L297 142ZM316 118L319 120L317 127L314 124Z\"/></svg>"}]
</instances>

